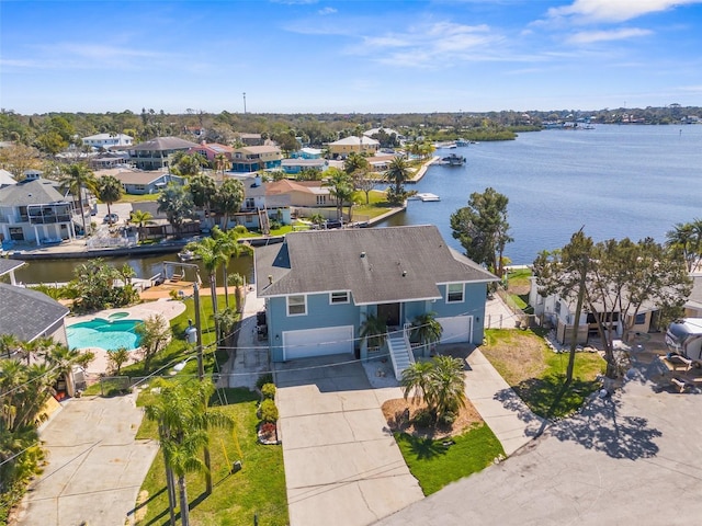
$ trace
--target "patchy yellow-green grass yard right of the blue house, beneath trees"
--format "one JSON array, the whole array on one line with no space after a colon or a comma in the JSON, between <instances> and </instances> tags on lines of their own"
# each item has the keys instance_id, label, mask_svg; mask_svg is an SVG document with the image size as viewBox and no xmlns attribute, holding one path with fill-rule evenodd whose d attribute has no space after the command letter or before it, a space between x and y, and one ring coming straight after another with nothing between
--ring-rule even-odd
<instances>
[{"instance_id":1,"label":"patchy yellow-green grass yard right of the blue house, beneath trees","mask_svg":"<svg viewBox=\"0 0 702 526\"><path fill-rule=\"evenodd\" d=\"M485 338L485 357L540 416L568 416L600 387L596 378L605 364L597 353L576 354L573 382L566 388L568 353L554 353L532 331L489 329Z\"/></svg>"}]
</instances>

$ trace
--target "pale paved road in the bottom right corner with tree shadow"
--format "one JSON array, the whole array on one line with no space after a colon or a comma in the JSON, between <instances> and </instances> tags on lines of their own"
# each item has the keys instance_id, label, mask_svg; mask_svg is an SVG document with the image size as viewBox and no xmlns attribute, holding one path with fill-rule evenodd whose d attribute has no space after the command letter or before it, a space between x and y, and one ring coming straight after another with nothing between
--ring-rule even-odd
<instances>
[{"instance_id":1,"label":"pale paved road in the bottom right corner with tree shadow","mask_svg":"<svg viewBox=\"0 0 702 526\"><path fill-rule=\"evenodd\" d=\"M376 524L699 524L701 413L700 395L656 392L649 382L630 381L500 465Z\"/></svg>"}]
</instances>

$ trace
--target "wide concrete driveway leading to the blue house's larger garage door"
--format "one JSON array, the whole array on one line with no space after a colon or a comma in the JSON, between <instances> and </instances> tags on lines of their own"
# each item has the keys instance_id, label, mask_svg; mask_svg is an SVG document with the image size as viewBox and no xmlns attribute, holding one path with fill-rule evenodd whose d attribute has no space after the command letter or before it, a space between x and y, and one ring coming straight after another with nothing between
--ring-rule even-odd
<instances>
[{"instance_id":1,"label":"wide concrete driveway leading to the blue house's larger garage door","mask_svg":"<svg viewBox=\"0 0 702 526\"><path fill-rule=\"evenodd\" d=\"M276 403L291 526L362 526L423 499L351 355L278 364Z\"/></svg>"}]
</instances>

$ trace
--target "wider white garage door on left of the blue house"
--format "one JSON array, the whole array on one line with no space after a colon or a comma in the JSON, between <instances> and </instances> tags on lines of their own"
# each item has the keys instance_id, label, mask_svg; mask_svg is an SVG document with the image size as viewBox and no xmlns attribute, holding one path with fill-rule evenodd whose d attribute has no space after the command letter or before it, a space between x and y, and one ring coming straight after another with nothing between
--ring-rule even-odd
<instances>
[{"instance_id":1,"label":"wider white garage door on left of the blue house","mask_svg":"<svg viewBox=\"0 0 702 526\"><path fill-rule=\"evenodd\" d=\"M283 359L353 353L353 325L283 332Z\"/></svg>"}]
</instances>

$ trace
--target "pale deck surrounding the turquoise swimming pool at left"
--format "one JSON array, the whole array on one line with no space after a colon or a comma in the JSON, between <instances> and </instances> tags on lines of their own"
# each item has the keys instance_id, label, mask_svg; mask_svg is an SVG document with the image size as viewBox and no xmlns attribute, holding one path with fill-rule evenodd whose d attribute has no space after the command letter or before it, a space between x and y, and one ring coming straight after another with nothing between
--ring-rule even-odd
<instances>
[{"instance_id":1,"label":"pale deck surrounding the turquoise swimming pool at left","mask_svg":"<svg viewBox=\"0 0 702 526\"><path fill-rule=\"evenodd\" d=\"M66 327L73 325L83 321L91 321L95 318L110 318L115 312L128 312L129 316L121 318L122 320L145 320L155 315L162 315L167 320L172 320L185 310L185 304L177 301L167 297L157 299L156 301L147 301L144 304L135 305L133 307L122 307L118 309L107 309L93 312L84 316L69 316L66 318ZM107 351L102 347L86 347L82 351L91 351L94 353L95 358L88 365L86 373L89 376L101 375L110 368L110 361L107 359ZM134 357L127 362L132 364L138 362L138 353L133 353Z\"/></svg>"}]
</instances>

